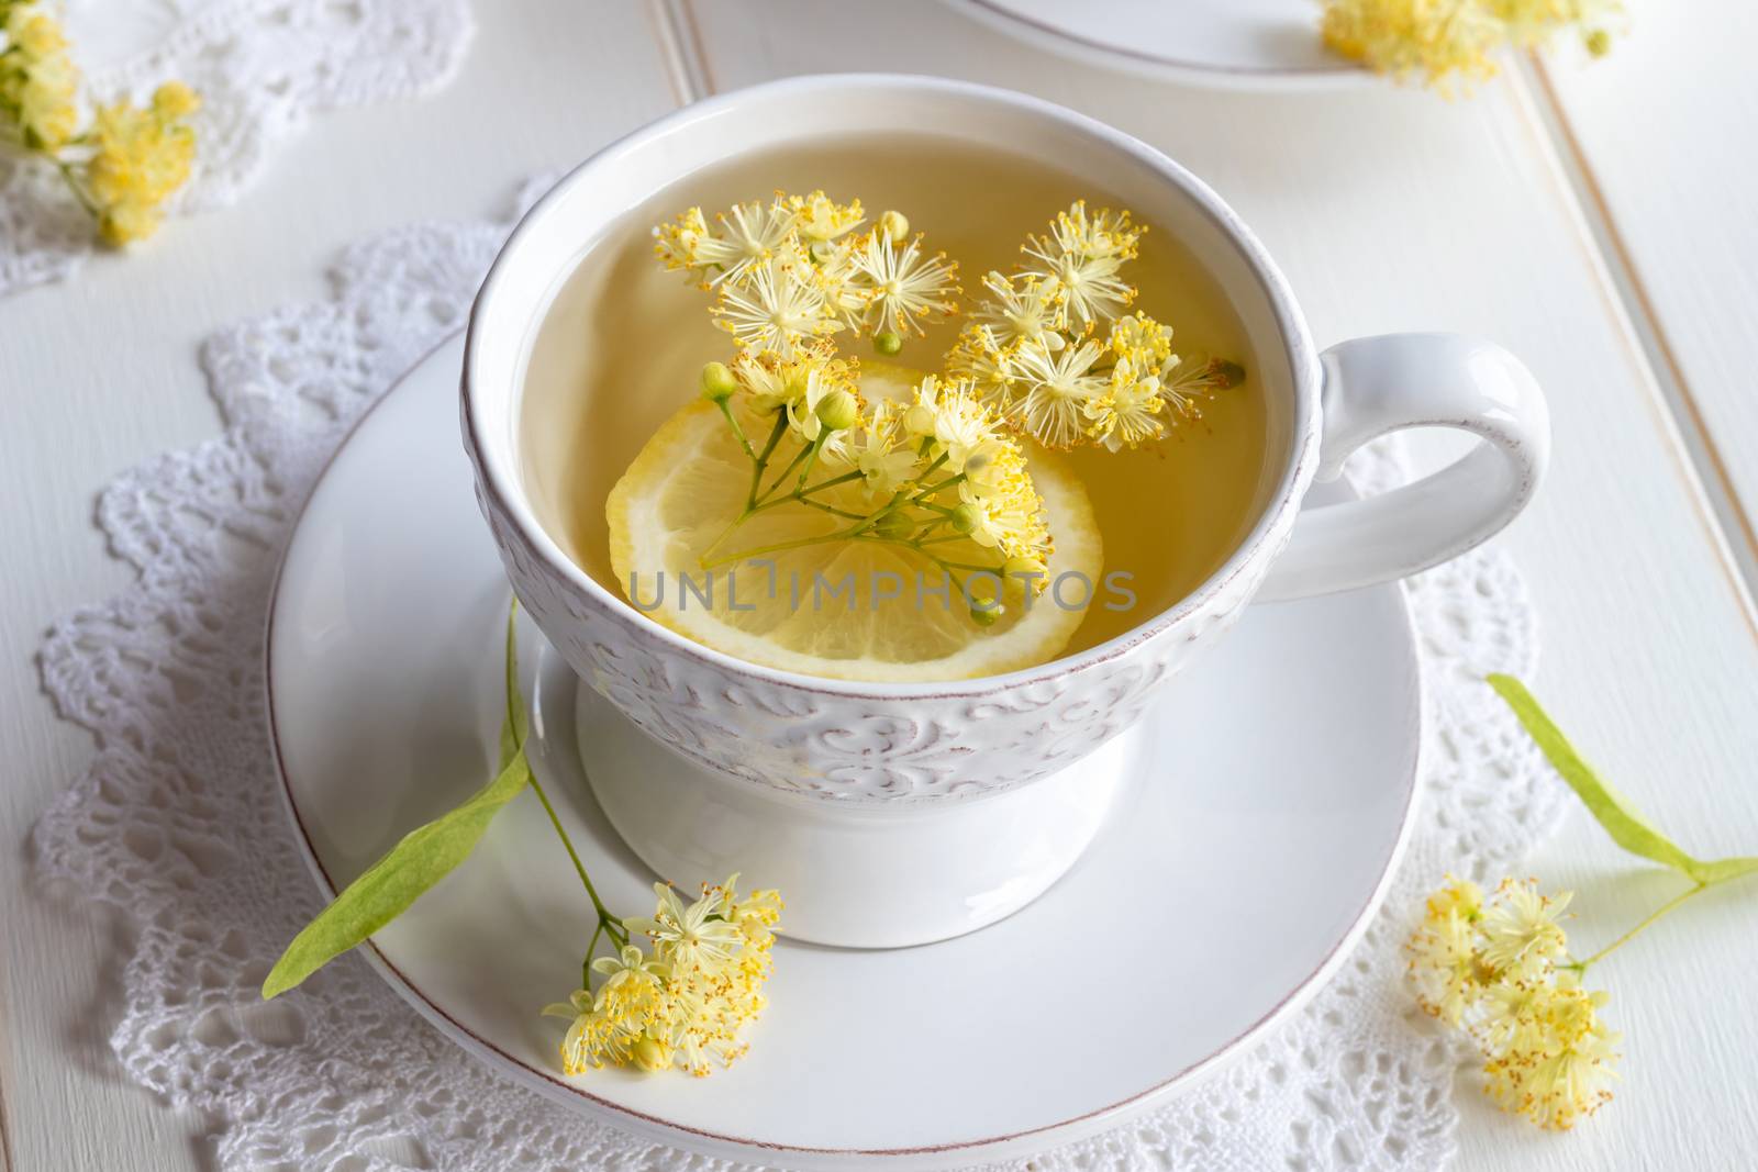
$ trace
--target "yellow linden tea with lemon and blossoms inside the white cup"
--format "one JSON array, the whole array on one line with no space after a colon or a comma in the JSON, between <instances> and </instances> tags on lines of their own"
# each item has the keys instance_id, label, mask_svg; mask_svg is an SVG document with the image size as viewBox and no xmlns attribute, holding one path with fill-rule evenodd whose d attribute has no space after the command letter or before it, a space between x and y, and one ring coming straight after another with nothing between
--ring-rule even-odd
<instances>
[{"instance_id":1,"label":"yellow linden tea with lemon and blossoms inside the white cup","mask_svg":"<svg viewBox=\"0 0 1758 1172\"><path fill-rule=\"evenodd\" d=\"M666 627L849 680L1095 647L1238 548L1245 330L1102 186L932 135L754 153L587 250L531 350L533 501Z\"/></svg>"}]
</instances>

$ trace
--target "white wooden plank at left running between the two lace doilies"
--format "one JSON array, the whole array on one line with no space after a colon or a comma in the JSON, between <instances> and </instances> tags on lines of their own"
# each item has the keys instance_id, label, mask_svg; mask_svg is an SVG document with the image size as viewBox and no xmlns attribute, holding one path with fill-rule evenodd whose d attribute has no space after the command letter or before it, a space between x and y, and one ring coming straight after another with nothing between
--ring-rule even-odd
<instances>
[{"instance_id":1,"label":"white wooden plank at left running between the two lace doilies","mask_svg":"<svg viewBox=\"0 0 1758 1172\"><path fill-rule=\"evenodd\" d=\"M111 1054L120 928L26 882L30 826L91 757L39 692L37 643L128 578L93 496L214 434L195 353L211 330L323 297L323 267L373 232L501 216L531 174L675 105L643 5L508 0L478 19L440 95L318 116L236 207L0 300L0 1119L16 1168L209 1168L218 1126L167 1111Z\"/></svg>"}]
</instances>

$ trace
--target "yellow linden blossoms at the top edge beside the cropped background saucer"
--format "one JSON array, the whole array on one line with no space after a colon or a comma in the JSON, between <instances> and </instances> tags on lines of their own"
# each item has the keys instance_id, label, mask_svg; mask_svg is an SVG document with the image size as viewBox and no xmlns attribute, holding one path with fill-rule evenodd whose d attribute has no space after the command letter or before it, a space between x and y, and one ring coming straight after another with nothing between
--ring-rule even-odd
<instances>
[{"instance_id":1,"label":"yellow linden blossoms at the top edge beside the cropped background saucer","mask_svg":"<svg viewBox=\"0 0 1758 1172\"><path fill-rule=\"evenodd\" d=\"M1343 56L1403 81L1431 86L1496 74L1503 46L1538 47L1573 30L1587 53L1605 56L1621 0L1326 0L1324 40Z\"/></svg>"}]
</instances>

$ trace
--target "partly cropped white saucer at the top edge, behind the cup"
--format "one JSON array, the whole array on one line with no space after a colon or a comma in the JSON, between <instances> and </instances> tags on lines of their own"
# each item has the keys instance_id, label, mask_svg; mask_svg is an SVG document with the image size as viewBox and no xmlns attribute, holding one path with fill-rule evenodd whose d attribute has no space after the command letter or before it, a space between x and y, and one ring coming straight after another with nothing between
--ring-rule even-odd
<instances>
[{"instance_id":1,"label":"partly cropped white saucer at the top edge, behind the cup","mask_svg":"<svg viewBox=\"0 0 1758 1172\"><path fill-rule=\"evenodd\" d=\"M951 2L1050 53L1167 81L1315 90L1373 79L1320 40L1315 0Z\"/></svg>"}]
</instances>

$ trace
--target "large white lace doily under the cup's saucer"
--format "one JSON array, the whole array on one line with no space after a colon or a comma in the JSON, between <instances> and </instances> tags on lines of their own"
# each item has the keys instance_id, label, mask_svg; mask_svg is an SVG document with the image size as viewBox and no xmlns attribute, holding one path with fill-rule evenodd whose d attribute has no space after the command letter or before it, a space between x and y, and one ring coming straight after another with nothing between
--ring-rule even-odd
<instances>
[{"instance_id":1,"label":"large white lace doily under the cup's saucer","mask_svg":"<svg viewBox=\"0 0 1758 1172\"><path fill-rule=\"evenodd\" d=\"M332 966L323 1000L264 1005L257 993L318 907L264 727L274 562L325 457L462 323L505 232L427 225L367 241L336 265L329 300L209 339L225 434L104 494L104 531L139 580L67 615L42 650L46 687L98 750L39 824L39 866L135 924L116 1054L223 1121L229 1170L728 1167L503 1082L359 958ZM1398 476L1384 453L1355 471L1369 487ZM1456 1056L1412 1014L1399 944L1443 872L1493 880L1514 868L1565 791L1480 682L1535 668L1508 561L1473 553L1410 590L1435 742L1385 910L1341 975L1255 1051L1160 1112L1030 1167L1433 1168L1450 1154Z\"/></svg>"}]
</instances>

